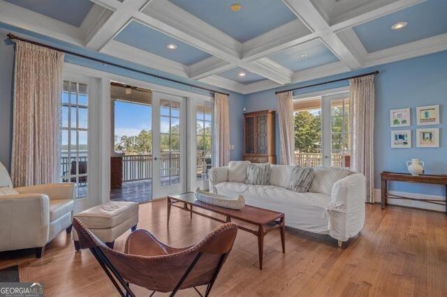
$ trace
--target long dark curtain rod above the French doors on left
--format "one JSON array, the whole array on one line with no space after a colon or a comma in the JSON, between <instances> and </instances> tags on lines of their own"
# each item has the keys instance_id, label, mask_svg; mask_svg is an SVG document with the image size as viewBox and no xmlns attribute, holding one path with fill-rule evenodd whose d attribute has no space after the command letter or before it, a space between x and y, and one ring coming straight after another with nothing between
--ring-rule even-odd
<instances>
[{"instance_id":1,"label":"long dark curtain rod above the French doors on left","mask_svg":"<svg viewBox=\"0 0 447 297\"><path fill-rule=\"evenodd\" d=\"M56 51L58 51L58 52L64 52L64 53L66 53L66 54L71 54L71 55L73 55L73 56L79 56L79 57L84 58L84 59L89 59L89 60L91 60L91 61L96 61L96 62L99 62L99 63L108 64L108 65L110 65L110 66L115 66L115 67L118 67L118 68L123 68L123 69L126 69L126 70L131 70L131 71L133 71L133 72L135 72L135 73L141 73L141 74L143 74L143 75L149 75L149 76L151 76L151 77L159 78L159 79L163 79L163 80L166 80L166 81L168 81L168 82L175 82L176 84L183 84L183 85L185 85L185 86L191 86L191 87L193 87L193 88L201 89L201 90L205 90L205 91L209 91L209 92L211 92L211 93L219 93L219 94L223 94L223 95L226 95L226 96L230 96L229 93L223 93L223 92L221 92L221 91L216 91L216 90L212 90L212 89L207 89L207 88L205 88L205 87L203 87L203 86L196 86L196 85L194 85L194 84L188 84L187 82L180 82L179 80L176 80L176 79L171 79L171 78L168 78L168 77L163 77L163 76L161 76L161 75L154 75L154 74L152 74L152 73L147 73L147 72L142 71L142 70L133 69L133 68L130 68L130 67L127 67L127 66L122 66L122 65L119 65L119 64L117 64L117 63L112 63L112 62L104 61L104 60L101 60L101 59L96 59L96 58L93 58L93 57L91 57L91 56L86 56L85 54L78 54L77 52L71 52L71 51L69 51L69 50L64 50L64 49L61 49L61 48L59 48L59 47L53 47L53 46L51 46L51 45L45 45L44 43L38 43L38 42L33 41L33 40L29 40L29 39L25 39L25 38L20 38L20 37L15 36L13 33L8 33L8 38L11 39L11 40L13 40L13 39L21 40L21 41L24 41L24 42L26 42L26 43L32 43L32 44L34 44L34 45L39 45L39 46L41 46L41 47L47 47L47 48L49 48L49 49L51 49L51 50L56 50Z\"/></svg>"}]
</instances>

